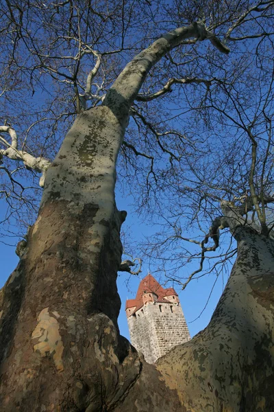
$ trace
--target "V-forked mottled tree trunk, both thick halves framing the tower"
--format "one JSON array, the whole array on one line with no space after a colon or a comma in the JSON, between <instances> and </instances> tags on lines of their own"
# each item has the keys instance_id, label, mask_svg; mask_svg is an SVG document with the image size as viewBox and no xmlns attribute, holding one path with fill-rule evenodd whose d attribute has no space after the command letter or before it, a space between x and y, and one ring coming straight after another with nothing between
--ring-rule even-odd
<instances>
[{"instance_id":1,"label":"V-forked mottled tree trunk, both thick halves framing the tower","mask_svg":"<svg viewBox=\"0 0 274 412\"><path fill-rule=\"evenodd\" d=\"M108 108L84 113L51 165L2 291L1 411L271 411L272 240L234 229L238 258L208 328L156 366L119 335L121 135Z\"/></svg>"}]
</instances>

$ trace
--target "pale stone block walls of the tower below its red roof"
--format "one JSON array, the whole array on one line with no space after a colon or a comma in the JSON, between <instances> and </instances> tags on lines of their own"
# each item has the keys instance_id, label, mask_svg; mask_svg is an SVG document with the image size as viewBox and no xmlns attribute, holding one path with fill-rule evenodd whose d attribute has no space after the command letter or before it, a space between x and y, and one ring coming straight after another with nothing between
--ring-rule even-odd
<instances>
[{"instance_id":1,"label":"pale stone block walls of the tower below its red roof","mask_svg":"<svg viewBox=\"0 0 274 412\"><path fill-rule=\"evenodd\" d=\"M190 339L179 304L147 302L128 319L132 345L154 363L175 345Z\"/></svg>"}]
</instances>

